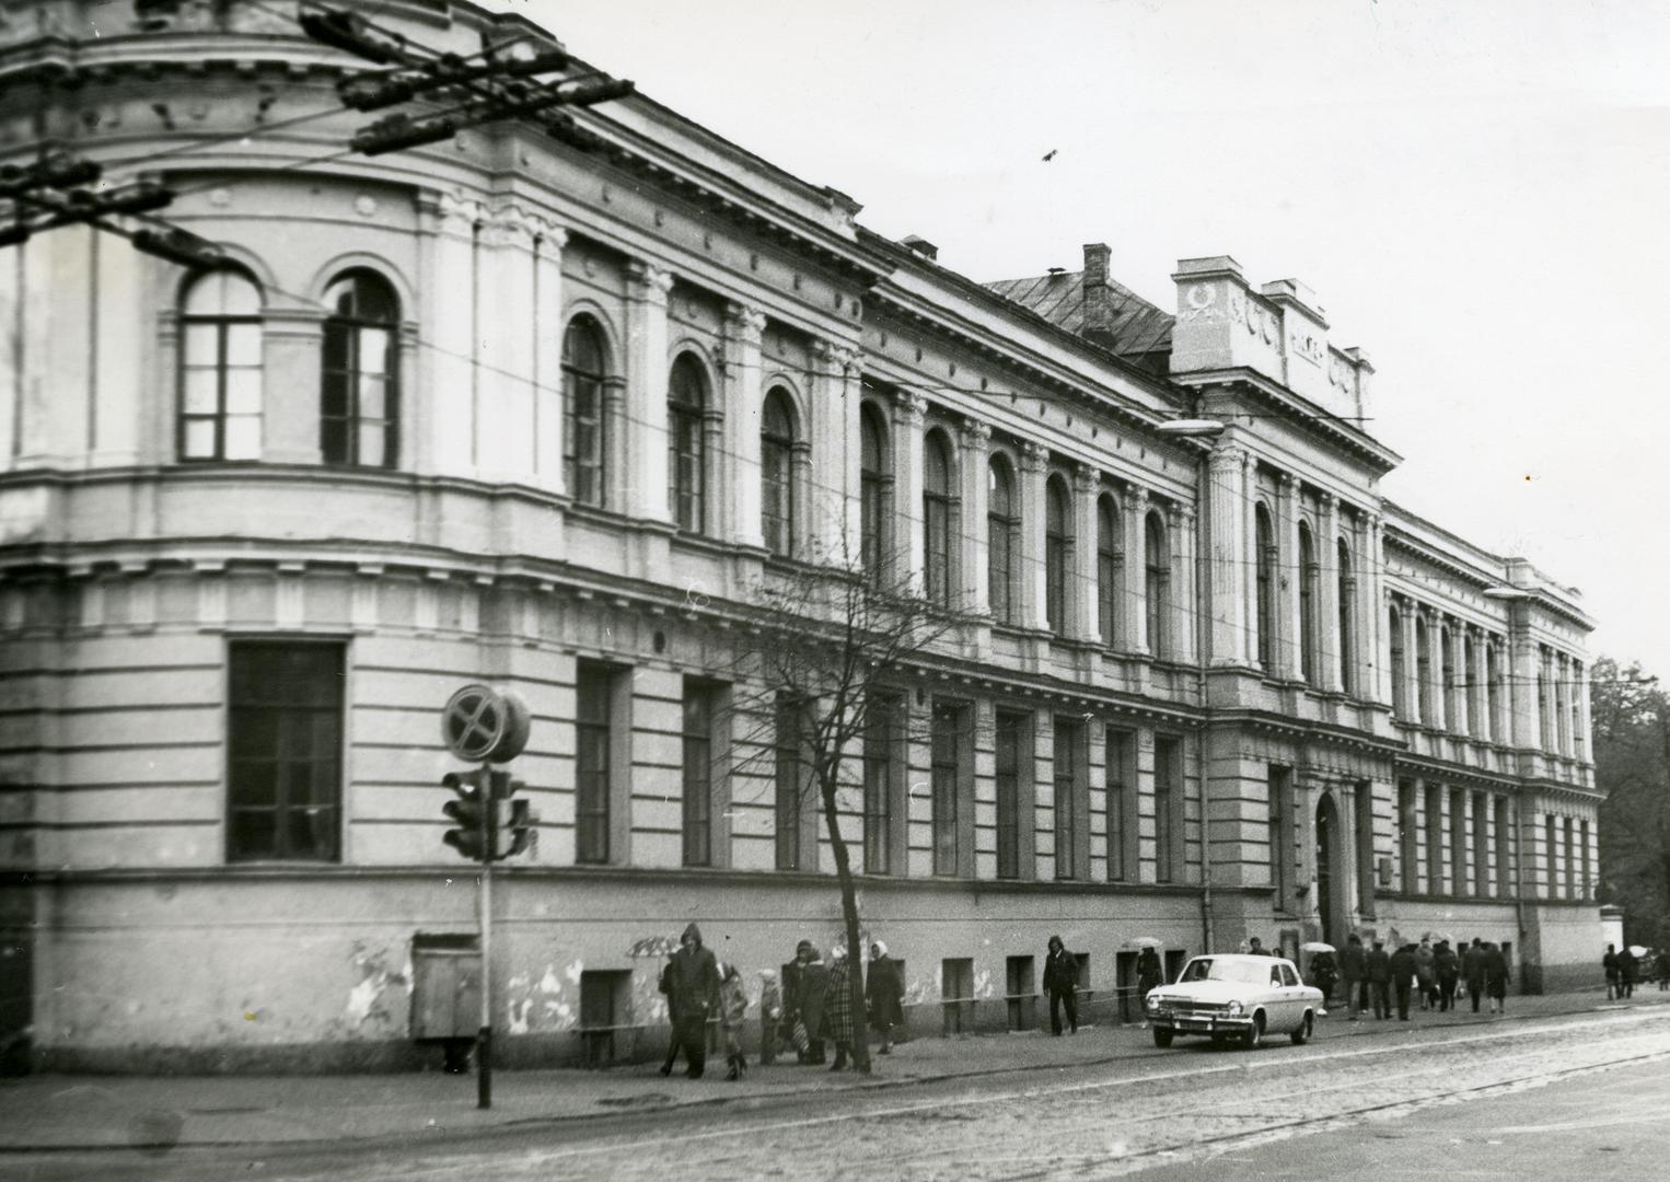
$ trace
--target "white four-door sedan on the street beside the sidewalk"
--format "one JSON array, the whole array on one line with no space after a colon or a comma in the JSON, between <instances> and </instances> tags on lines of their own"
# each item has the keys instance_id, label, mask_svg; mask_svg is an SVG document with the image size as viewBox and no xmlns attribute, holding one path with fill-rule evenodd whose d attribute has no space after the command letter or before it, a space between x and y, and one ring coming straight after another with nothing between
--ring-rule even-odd
<instances>
[{"instance_id":1,"label":"white four-door sedan on the street beside the sidewalk","mask_svg":"<svg viewBox=\"0 0 1670 1182\"><path fill-rule=\"evenodd\" d=\"M1258 1047L1264 1035L1284 1033L1303 1045L1323 1010L1323 992L1299 980L1281 957L1196 957L1174 985L1149 990L1147 1018L1154 1045L1169 1047L1184 1035L1236 1038Z\"/></svg>"}]
</instances>

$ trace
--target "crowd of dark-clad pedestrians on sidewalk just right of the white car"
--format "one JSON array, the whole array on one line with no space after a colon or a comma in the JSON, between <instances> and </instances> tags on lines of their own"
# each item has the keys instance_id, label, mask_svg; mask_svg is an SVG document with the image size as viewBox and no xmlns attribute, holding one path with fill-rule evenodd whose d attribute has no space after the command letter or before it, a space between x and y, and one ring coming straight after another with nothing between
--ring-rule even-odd
<instances>
[{"instance_id":1,"label":"crowd of dark-clad pedestrians on sidewalk just right of the white car","mask_svg":"<svg viewBox=\"0 0 1670 1182\"><path fill-rule=\"evenodd\" d=\"M1384 940L1376 938L1371 948L1364 948L1363 938L1351 933L1338 965L1351 1022L1369 1008L1378 1020L1389 1020L1393 1000L1399 1022L1409 1020L1411 1003L1440 1013L1456 1010L1456 998L1463 993L1473 1000L1473 1013L1480 1012L1480 1002L1490 1003L1490 1013L1503 1013L1508 977L1506 953L1500 945L1478 937L1471 945L1461 945L1460 952L1450 947L1450 940L1433 943L1430 937L1418 943L1404 942L1388 952ZM1323 988L1321 980L1318 988ZM1323 1005L1328 1005L1329 993L1331 990L1323 990Z\"/></svg>"}]
</instances>

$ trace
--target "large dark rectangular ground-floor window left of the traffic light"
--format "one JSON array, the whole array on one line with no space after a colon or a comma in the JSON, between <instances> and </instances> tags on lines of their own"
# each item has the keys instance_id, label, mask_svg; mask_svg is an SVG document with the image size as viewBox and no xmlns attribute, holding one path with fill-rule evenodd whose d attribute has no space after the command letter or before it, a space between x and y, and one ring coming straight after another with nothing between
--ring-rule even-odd
<instances>
[{"instance_id":1,"label":"large dark rectangular ground-floor window left of the traffic light","mask_svg":"<svg viewBox=\"0 0 1670 1182\"><path fill-rule=\"evenodd\" d=\"M227 695L227 860L341 856L344 648L235 641Z\"/></svg>"}]
</instances>

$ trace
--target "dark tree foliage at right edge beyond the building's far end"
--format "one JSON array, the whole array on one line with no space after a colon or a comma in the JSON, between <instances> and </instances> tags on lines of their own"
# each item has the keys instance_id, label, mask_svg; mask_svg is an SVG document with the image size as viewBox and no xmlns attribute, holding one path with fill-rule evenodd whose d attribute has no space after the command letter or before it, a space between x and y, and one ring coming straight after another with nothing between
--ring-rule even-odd
<instances>
[{"instance_id":1,"label":"dark tree foliage at right edge beyond the building's far end","mask_svg":"<svg viewBox=\"0 0 1670 1182\"><path fill-rule=\"evenodd\" d=\"M1670 945L1670 696L1638 663L1600 658L1590 679L1600 805L1600 900L1625 938Z\"/></svg>"}]
</instances>

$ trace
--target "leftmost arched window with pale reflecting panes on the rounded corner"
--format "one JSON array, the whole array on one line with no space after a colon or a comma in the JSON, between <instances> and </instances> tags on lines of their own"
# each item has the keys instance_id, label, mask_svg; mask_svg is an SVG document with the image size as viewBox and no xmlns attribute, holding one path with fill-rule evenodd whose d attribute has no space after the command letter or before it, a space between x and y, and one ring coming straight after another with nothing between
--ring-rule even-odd
<instances>
[{"instance_id":1,"label":"leftmost arched window with pale reflecting panes on the rounded corner","mask_svg":"<svg viewBox=\"0 0 1670 1182\"><path fill-rule=\"evenodd\" d=\"M209 270L180 301L180 459L261 459L261 289Z\"/></svg>"}]
</instances>

